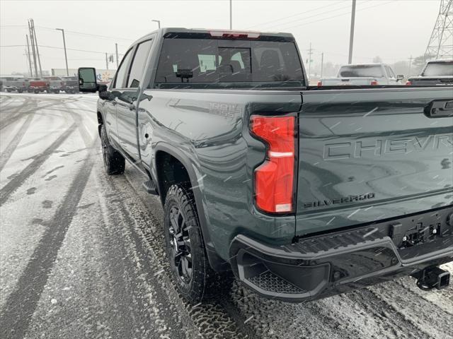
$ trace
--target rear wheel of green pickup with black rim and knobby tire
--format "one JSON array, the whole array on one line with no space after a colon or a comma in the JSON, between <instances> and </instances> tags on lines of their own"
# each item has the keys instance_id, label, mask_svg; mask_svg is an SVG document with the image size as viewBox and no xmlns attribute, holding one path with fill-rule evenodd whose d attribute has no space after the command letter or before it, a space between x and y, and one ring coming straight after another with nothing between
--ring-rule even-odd
<instances>
[{"instance_id":1,"label":"rear wheel of green pickup with black rim and knobby tire","mask_svg":"<svg viewBox=\"0 0 453 339\"><path fill-rule=\"evenodd\" d=\"M189 302L207 301L231 289L231 272L216 273L207 259L193 193L183 184L172 185L164 204L164 232L171 278Z\"/></svg>"}]
</instances>

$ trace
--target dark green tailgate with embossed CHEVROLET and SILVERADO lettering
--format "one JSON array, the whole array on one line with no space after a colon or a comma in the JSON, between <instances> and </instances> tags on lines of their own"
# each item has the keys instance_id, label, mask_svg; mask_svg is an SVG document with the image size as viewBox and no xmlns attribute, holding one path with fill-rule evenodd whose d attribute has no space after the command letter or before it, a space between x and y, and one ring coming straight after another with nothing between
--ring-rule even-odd
<instances>
[{"instance_id":1,"label":"dark green tailgate with embossed CHEVROLET and SILVERADO lettering","mask_svg":"<svg viewBox=\"0 0 453 339\"><path fill-rule=\"evenodd\" d=\"M433 100L452 88L302 92L296 235L451 205L453 117Z\"/></svg>"}]
</instances>

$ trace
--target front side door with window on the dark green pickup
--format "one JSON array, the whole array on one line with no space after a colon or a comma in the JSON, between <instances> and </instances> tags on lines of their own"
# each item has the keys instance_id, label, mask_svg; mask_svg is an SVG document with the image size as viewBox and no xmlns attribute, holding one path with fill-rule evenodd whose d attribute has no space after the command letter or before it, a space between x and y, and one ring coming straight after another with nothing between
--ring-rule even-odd
<instances>
[{"instance_id":1,"label":"front side door with window on the dark green pickup","mask_svg":"<svg viewBox=\"0 0 453 339\"><path fill-rule=\"evenodd\" d=\"M127 78L127 70L130 69L130 61L132 59L132 54L134 49L129 49L125 57L122 58L120 67L117 69L115 78L113 79L112 85L110 85L110 92L112 93L112 98L110 100L105 100L103 102L103 113L104 113L104 124L107 131L108 138L110 142L113 142L115 145L120 145L120 141L117 134L117 96L121 93L121 88L124 87L124 83Z\"/></svg>"}]
</instances>

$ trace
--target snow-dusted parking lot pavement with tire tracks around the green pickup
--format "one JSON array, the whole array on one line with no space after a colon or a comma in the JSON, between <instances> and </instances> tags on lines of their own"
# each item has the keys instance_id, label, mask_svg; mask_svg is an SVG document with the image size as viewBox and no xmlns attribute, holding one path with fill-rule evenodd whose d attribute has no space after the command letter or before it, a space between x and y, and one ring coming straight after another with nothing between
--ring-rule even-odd
<instances>
[{"instance_id":1,"label":"snow-dusted parking lot pavement with tire tracks around the green pickup","mask_svg":"<svg viewBox=\"0 0 453 339\"><path fill-rule=\"evenodd\" d=\"M409 277L304 304L238 283L186 303L159 198L128 164L104 172L96 101L1 93L0 338L453 338L452 285Z\"/></svg>"}]
</instances>

